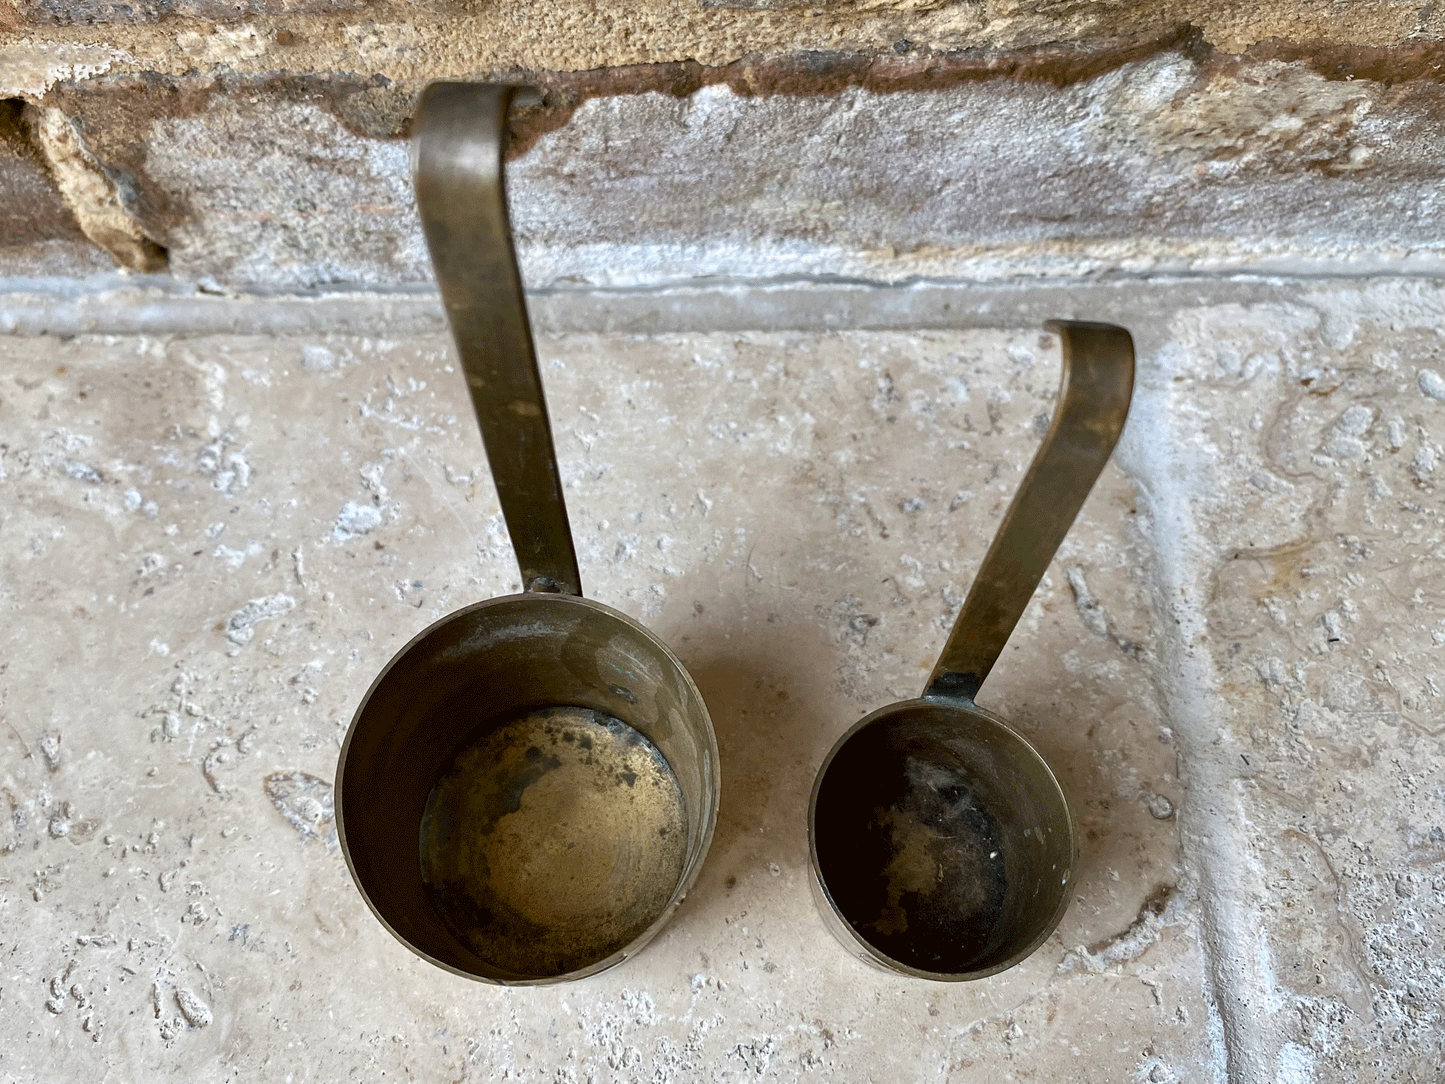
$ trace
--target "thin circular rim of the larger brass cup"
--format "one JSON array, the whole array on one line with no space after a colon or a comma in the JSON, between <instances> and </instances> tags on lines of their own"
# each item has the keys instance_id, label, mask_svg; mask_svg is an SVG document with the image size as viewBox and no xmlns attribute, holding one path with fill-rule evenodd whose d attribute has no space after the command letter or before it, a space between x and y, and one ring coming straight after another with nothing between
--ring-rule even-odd
<instances>
[{"instance_id":1,"label":"thin circular rim of the larger brass cup","mask_svg":"<svg viewBox=\"0 0 1445 1084\"><path fill-rule=\"evenodd\" d=\"M455 620L474 614L478 610L487 610L506 603L519 603L519 601L542 604L542 606L581 606L604 617L610 617L620 621L630 632L637 633L649 643L652 643L655 648L657 648L662 656L668 659L668 662L678 672L678 676L682 678L685 689L695 698L696 704L702 711L702 721L707 724L704 728L707 731L707 739L708 739L705 749L705 759L708 769L707 775L711 779L711 785L707 788L707 791L712 801L708 804L708 808L704 809L702 812L702 825L698 835L699 847L696 850L696 857L686 867L683 867L682 876L679 877L678 885L672 892L672 896L668 899L666 906L663 906L663 909L657 913L657 918L637 937L634 937L631 941L629 941L626 945L618 948L611 955L607 955L598 961L587 964L585 967L579 967L574 971L564 971L562 974L556 976L540 976L540 977L519 976L516 978L497 978L494 976L481 976L474 971L467 971L464 968L455 967L454 964L448 964L444 960L438 960L432 954L413 945L406 937L397 932L397 929L377 909L376 903L371 900L371 893L367 892L366 885L361 882L361 877L357 876L355 863L351 860L351 847L347 844L347 828L345 828L345 814L344 814L345 802L342 801L344 798L342 783L345 779L347 756L351 752L351 739L357 733L357 727L361 723L361 715L366 713L367 705L371 702L371 695L376 692L377 688L380 688L381 682L392 672L392 668L396 666L405 656L407 656L422 640L431 636L436 629L441 629ZM673 650L666 643L663 643L662 639L656 636L656 633L653 633L642 623L633 620L627 614L621 613L620 610L614 610L613 607L604 603L598 603L594 598L584 598L582 595L574 595L574 594L523 591L519 594L506 594L506 595L497 595L494 598L484 598L478 603L471 603L470 606L464 606L460 610L452 610L445 617L438 617L435 621L428 624L425 629L416 633L410 640L407 640L405 646L399 648L396 653L392 655L386 666L381 668L381 671L367 687L366 695L361 697L361 701L357 704L357 708L351 715L351 724L347 727L347 736L341 743L341 753L337 757L337 778L335 782L332 783L332 809L337 822L337 840L341 844L341 854L347 861L347 872L351 874L351 883L355 885L357 892L361 893L361 899L366 900L367 908L376 916L377 922L380 922L381 926L393 938L396 938L400 944L403 944L407 950L410 950L415 955L420 957L426 963L434 964L442 968L444 971L451 971L455 976L461 976L462 978L470 978L473 981L484 983L488 986L552 986L555 983L568 983L577 978L585 978L588 976L616 967L629 957L633 957L637 952L640 952L647 945L647 942L650 942L662 931L662 928L668 925L673 913L682 905L682 900L685 900L688 898L688 893L692 892L692 887L696 883L698 876L702 873L702 866L705 864L708 851L712 847L712 834L714 830L717 828L721 788L722 788L721 759L718 754L717 728L712 726L712 714L708 711L707 701L702 698L702 692L698 689L696 682L688 672L688 668L682 665L682 661L676 656L676 653L673 653Z\"/></svg>"}]
</instances>

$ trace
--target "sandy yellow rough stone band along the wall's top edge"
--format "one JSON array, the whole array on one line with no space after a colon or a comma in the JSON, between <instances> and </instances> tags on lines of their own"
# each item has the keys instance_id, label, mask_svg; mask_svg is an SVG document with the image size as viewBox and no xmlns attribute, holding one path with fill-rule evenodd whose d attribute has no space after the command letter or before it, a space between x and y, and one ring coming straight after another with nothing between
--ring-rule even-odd
<instances>
[{"instance_id":1,"label":"sandy yellow rough stone band along the wall's top edge","mask_svg":"<svg viewBox=\"0 0 1445 1084\"><path fill-rule=\"evenodd\" d=\"M1110 48L1194 27L1214 48L1412 46L1445 16L1386 0L6 0L0 35L45 49L113 46L127 71L364 71L393 78L588 71L799 51ZM4 38L0 38L4 42Z\"/></svg>"}]
</instances>

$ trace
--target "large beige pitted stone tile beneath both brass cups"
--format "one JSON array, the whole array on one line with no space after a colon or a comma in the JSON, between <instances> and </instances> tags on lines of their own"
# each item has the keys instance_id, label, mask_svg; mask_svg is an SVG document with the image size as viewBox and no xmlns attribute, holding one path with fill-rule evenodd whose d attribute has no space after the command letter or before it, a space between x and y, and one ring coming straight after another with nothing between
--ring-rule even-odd
<instances>
[{"instance_id":1,"label":"large beige pitted stone tile beneath both brass cups","mask_svg":"<svg viewBox=\"0 0 1445 1084\"><path fill-rule=\"evenodd\" d=\"M397 945L329 783L415 632L516 590L442 337L9 340L0 389L0 1075L1087 1081L1215 1072L1188 795L1134 486L1108 468L984 701L1084 827L1077 899L978 983L825 932L805 809L915 694L1039 439L1038 331L540 343L588 593L718 728L717 837L643 954L503 990ZM9 850L4 850L9 847Z\"/></svg>"}]
</instances>

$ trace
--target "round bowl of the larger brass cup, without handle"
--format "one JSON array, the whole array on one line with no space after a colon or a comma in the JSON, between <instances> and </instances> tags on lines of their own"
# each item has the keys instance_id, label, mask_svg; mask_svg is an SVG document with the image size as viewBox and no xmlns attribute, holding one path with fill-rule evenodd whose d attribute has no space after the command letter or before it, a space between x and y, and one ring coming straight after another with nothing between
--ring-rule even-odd
<instances>
[{"instance_id":1,"label":"round bowl of the larger brass cup, without handle","mask_svg":"<svg viewBox=\"0 0 1445 1084\"><path fill-rule=\"evenodd\" d=\"M351 873L409 948L484 981L621 963L696 880L718 753L676 656L624 614L526 594L387 665L337 773Z\"/></svg>"}]
</instances>

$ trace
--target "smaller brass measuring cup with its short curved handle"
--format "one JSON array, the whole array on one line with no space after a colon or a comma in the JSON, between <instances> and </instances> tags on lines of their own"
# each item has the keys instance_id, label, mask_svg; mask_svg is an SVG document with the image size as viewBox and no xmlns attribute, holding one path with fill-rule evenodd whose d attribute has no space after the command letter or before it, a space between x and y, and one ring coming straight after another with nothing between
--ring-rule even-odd
<instances>
[{"instance_id":1,"label":"smaller brass measuring cup with its short curved handle","mask_svg":"<svg viewBox=\"0 0 1445 1084\"><path fill-rule=\"evenodd\" d=\"M1078 835L1043 757L974 700L1124 428L1134 347L1056 321L1053 422L918 700L850 728L808 804L812 889L861 960L922 978L1013 967L1068 906Z\"/></svg>"}]
</instances>

